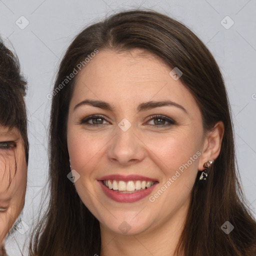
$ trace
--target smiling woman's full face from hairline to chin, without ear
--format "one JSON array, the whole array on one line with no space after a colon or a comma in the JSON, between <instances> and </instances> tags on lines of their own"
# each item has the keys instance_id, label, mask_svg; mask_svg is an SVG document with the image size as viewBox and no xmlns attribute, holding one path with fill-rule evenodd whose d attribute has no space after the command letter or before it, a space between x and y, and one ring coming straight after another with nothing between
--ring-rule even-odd
<instances>
[{"instance_id":1,"label":"smiling woman's full face from hairline to chin, without ear","mask_svg":"<svg viewBox=\"0 0 256 256\"><path fill-rule=\"evenodd\" d=\"M67 122L77 193L101 230L119 234L151 232L185 212L203 144L191 93L139 52L99 51L78 74Z\"/></svg>"}]
</instances>

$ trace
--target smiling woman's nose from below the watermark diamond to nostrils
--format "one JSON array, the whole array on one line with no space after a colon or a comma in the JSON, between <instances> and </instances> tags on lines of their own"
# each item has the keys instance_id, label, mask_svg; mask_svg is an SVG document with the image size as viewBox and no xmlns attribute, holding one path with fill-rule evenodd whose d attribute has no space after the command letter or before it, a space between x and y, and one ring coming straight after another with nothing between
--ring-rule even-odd
<instances>
[{"instance_id":1,"label":"smiling woman's nose from below the watermark diamond to nostrils","mask_svg":"<svg viewBox=\"0 0 256 256\"><path fill-rule=\"evenodd\" d=\"M117 126L116 133L108 145L108 159L120 165L134 164L145 157L144 144L132 126L126 131Z\"/></svg>"}]
</instances>

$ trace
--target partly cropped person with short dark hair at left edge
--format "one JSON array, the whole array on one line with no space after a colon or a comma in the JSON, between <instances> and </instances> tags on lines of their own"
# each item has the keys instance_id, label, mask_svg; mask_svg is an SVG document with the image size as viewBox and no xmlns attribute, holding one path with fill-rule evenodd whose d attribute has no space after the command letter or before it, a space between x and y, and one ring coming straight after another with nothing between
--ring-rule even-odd
<instances>
[{"instance_id":1,"label":"partly cropped person with short dark hair at left edge","mask_svg":"<svg viewBox=\"0 0 256 256\"><path fill-rule=\"evenodd\" d=\"M17 57L0 41L0 255L4 239L24 205L28 140L26 81Z\"/></svg>"}]
</instances>

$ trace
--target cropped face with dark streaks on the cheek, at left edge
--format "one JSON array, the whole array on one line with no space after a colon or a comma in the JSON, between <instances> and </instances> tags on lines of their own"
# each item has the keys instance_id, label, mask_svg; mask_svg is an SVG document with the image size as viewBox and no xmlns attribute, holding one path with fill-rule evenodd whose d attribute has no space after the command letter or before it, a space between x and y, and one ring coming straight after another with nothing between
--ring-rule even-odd
<instances>
[{"instance_id":1,"label":"cropped face with dark streaks on the cheek, at left edge","mask_svg":"<svg viewBox=\"0 0 256 256\"><path fill-rule=\"evenodd\" d=\"M24 205L26 160L17 128L0 126L0 245Z\"/></svg>"}]
</instances>

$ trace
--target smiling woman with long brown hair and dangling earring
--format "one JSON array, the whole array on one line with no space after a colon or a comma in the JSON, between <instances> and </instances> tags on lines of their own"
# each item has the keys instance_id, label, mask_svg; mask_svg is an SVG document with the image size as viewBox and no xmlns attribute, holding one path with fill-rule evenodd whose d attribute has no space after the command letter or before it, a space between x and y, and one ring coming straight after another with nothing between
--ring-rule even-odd
<instances>
[{"instance_id":1,"label":"smiling woman with long brown hair and dangling earring","mask_svg":"<svg viewBox=\"0 0 256 256\"><path fill-rule=\"evenodd\" d=\"M255 255L225 86L188 28L142 10L95 23L51 96L50 203L31 255Z\"/></svg>"}]
</instances>

